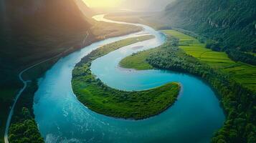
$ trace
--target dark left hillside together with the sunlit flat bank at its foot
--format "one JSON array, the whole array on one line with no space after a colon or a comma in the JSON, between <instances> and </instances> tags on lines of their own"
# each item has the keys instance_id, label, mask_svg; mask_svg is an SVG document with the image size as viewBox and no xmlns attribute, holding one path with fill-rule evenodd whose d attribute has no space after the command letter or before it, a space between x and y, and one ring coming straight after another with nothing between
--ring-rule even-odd
<instances>
[{"instance_id":1,"label":"dark left hillside together with the sunlit flat bank at its foot","mask_svg":"<svg viewBox=\"0 0 256 143\"><path fill-rule=\"evenodd\" d=\"M61 56L93 41L141 31L136 26L94 21L91 19L93 11L81 0L3 0L0 1L0 16L0 142L10 106L22 88L20 71L54 57L22 75L32 81L19 99L25 102L18 101L14 112L15 119L23 120L16 115L23 107L33 113L35 79ZM19 120L12 121L12 125Z\"/></svg>"}]
</instances>

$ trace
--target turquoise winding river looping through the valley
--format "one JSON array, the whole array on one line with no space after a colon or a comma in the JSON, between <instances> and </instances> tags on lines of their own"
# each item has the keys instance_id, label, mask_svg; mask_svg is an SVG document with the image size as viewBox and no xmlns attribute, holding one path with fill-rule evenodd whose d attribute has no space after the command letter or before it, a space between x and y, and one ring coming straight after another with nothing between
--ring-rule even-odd
<instances>
[{"instance_id":1,"label":"turquoise winding river looping through the valley","mask_svg":"<svg viewBox=\"0 0 256 143\"><path fill-rule=\"evenodd\" d=\"M98 21L110 21L103 15ZM173 71L122 69L118 63L136 51L163 44L161 32L142 24L144 30L136 34L119 36L95 42L60 59L39 79L34 97L34 114L39 131L48 143L52 142L209 142L214 131L222 127L224 112L213 90L189 74ZM108 86L126 91L158 87L168 82L179 82L182 89L178 101L165 112L140 121L115 119L87 109L72 92L72 69L83 56L99 46L152 34L155 39L122 47L93 61L91 70Z\"/></svg>"}]
</instances>

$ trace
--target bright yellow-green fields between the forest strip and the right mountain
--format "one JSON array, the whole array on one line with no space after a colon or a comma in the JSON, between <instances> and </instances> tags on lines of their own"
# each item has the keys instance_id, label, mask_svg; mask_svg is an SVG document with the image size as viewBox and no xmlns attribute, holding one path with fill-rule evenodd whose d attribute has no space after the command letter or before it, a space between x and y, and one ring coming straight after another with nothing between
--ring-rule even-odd
<instances>
[{"instance_id":1,"label":"bright yellow-green fields between the forest strip and the right mountain","mask_svg":"<svg viewBox=\"0 0 256 143\"><path fill-rule=\"evenodd\" d=\"M197 39L179 31L164 30L164 33L179 39L179 47L214 69L227 73L236 82L256 92L256 66L235 62L226 53L205 48Z\"/></svg>"}]
</instances>

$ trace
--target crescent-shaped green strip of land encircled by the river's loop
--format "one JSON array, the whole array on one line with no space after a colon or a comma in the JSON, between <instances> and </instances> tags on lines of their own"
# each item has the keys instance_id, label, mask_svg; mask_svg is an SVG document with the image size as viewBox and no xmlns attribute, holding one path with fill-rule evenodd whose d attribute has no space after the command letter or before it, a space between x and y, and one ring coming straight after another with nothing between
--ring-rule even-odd
<instances>
[{"instance_id":1,"label":"crescent-shaped green strip of land encircled by the river's loop","mask_svg":"<svg viewBox=\"0 0 256 143\"><path fill-rule=\"evenodd\" d=\"M140 36L116 41L85 56L72 72L72 89L80 102L100 114L125 119L145 119L174 104L180 89L178 83L146 91L124 92L106 86L90 71L90 64L94 59L120 47L152 38L153 36Z\"/></svg>"}]
</instances>

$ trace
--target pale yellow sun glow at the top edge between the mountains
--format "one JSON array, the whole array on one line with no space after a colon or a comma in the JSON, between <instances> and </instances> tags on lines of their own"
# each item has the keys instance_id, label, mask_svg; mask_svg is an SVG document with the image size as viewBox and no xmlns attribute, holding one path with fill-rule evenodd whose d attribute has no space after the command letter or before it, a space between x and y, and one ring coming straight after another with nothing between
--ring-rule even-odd
<instances>
[{"instance_id":1,"label":"pale yellow sun glow at the top edge between the mountains","mask_svg":"<svg viewBox=\"0 0 256 143\"><path fill-rule=\"evenodd\" d=\"M83 0L89 7L117 7L122 0Z\"/></svg>"}]
</instances>

